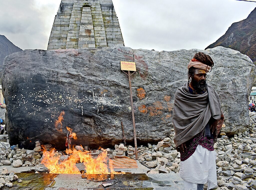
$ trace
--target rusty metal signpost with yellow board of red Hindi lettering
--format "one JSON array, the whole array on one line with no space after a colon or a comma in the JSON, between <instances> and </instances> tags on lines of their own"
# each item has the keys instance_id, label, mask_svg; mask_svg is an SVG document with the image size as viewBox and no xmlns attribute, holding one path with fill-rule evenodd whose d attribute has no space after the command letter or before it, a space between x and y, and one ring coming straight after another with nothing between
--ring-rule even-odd
<instances>
[{"instance_id":1,"label":"rusty metal signpost with yellow board of red Hindi lettering","mask_svg":"<svg viewBox=\"0 0 256 190\"><path fill-rule=\"evenodd\" d=\"M131 76L136 72L136 64L135 62L120 61L120 65L121 65L121 70L129 78L130 98L131 98L131 107L132 107L133 135L134 135L134 146L135 146L135 159L138 160L135 118L134 118L133 101L132 101L132 83L131 83ZM128 73L126 73L125 71L127 71ZM134 72L131 74L130 71L134 71Z\"/></svg>"}]
</instances>

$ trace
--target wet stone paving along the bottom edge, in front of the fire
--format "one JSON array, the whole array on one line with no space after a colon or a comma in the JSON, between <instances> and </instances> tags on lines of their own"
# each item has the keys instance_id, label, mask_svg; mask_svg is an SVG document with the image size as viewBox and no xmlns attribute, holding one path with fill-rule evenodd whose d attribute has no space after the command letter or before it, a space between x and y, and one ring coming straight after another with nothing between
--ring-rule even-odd
<instances>
[{"instance_id":1,"label":"wet stone paving along the bottom edge, in front of the fire","mask_svg":"<svg viewBox=\"0 0 256 190\"><path fill-rule=\"evenodd\" d=\"M175 174L47 174L15 173L22 182L2 189L22 190L86 190L86 189L183 189L182 180Z\"/></svg>"}]
</instances>

